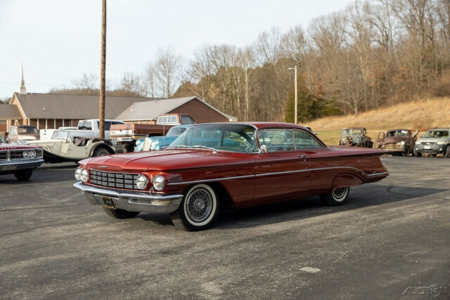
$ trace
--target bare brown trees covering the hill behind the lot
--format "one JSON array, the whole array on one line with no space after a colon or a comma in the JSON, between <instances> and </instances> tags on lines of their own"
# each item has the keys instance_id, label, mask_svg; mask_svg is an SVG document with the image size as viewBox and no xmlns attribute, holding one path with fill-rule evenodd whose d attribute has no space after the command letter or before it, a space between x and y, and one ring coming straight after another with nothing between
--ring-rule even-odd
<instances>
[{"instance_id":1,"label":"bare brown trees covering the hill behind the lot","mask_svg":"<svg viewBox=\"0 0 450 300\"><path fill-rule=\"evenodd\" d=\"M273 27L250 46L197 48L189 62L172 48L160 49L143 74L125 74L108 93L195 95L240 121L293 122L288 69L297 65L297 122L357 115L423 96L450 96L449 44L449 0L356 1L311 20L307 30ZM75 86L98 93L94 79L84 74Z\"/></svg>"}]
</instances>

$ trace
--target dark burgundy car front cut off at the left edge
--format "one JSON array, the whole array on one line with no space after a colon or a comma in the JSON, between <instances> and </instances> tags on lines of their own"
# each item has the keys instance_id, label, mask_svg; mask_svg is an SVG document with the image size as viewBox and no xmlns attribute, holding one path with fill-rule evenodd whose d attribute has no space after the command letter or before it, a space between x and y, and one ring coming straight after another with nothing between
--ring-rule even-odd
<instances>
[{"instance_id":1,"label":"dark burgundy car front cut off at the left edge","mask_svg":"<svg viewBox=\"0 0 450 300\"><path fill-rule=\"evenodd\" d=\"M0 175L14 174L19 181L26 181L43 162L41 148L7 144L0 136Z\"/></svg>"}]
</instances>

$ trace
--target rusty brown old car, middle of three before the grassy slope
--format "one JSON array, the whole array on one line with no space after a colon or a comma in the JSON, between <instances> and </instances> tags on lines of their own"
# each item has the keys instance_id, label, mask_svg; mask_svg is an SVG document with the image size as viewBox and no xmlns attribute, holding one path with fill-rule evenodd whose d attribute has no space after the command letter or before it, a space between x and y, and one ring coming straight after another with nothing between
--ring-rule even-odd
<instances>
[{"instance_id":1,"label":"rusty brown old car, middle of three before the grassy slope","mask_svg":"<svg viewBox=\"0 0 450 300\"><path fill-rule=\"evenodd\" d=\"M379 132L373 148L383 149L394 155L409 155L416 144L418 132L412 133L409 129L390 129L386 133Z\"/></svg>"}]
</instances>

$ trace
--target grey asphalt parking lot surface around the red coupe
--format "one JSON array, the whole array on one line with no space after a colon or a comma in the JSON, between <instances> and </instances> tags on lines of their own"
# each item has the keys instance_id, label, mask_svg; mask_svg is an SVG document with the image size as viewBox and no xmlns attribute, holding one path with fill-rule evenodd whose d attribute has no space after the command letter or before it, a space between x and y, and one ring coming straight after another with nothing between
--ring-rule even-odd
<instances>
[{"instance_id":1,"label":"grey asphalt parking lot surface around the red coupe","mask_svg":"<svg viewBox=\"0 0 450 300\"><path fill-rule=\"evenodd\" d=\"M224 211L210 230L116 220L72 187L75 164L0 177L0 299L450 298L450 159L383 157L390 176Z\"/></svg>"}]
</instances>

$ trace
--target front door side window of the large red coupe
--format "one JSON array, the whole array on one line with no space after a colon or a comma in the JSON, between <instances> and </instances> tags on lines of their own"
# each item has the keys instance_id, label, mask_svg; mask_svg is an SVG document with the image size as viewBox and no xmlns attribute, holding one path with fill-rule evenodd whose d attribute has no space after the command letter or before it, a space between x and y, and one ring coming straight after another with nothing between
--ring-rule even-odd
<instances>
[{"instance_id":1,"label":"front door side window of the large red coupe","mask_svg":"<svg viewBox=\"0 0 450 300\"><path fill-rule=\"evenodd\" d=\"M258 139L260 145L267 146L267 152L295 150L291 129L264 129L259 131Z\"/></svg>"}]
</instances>

